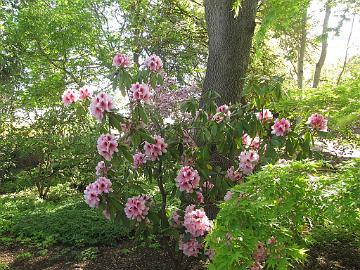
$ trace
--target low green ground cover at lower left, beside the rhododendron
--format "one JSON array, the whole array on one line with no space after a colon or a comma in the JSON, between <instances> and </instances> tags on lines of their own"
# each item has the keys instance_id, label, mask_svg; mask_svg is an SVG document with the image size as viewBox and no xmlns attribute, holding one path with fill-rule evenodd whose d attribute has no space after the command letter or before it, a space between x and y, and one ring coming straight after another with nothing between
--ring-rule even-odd
<instances>
[{"instance_id":1,"label":"low green ground cover at lower left, beside the rhododendron","mask_svg":"<svg viewBox=\"0 0 360 270\"><path fill-rule=\"evenodd\" d=\"M54 188L49 198L36 198L34 191L3 195L0 198L1 242L12 241L46 248L54 244L67 246L111 245L127 234L107 221L101 213L89 209L78 194L69 196L64 186ZM59 193L62 193L59 195Z\"/></svg>"}]
</instances>

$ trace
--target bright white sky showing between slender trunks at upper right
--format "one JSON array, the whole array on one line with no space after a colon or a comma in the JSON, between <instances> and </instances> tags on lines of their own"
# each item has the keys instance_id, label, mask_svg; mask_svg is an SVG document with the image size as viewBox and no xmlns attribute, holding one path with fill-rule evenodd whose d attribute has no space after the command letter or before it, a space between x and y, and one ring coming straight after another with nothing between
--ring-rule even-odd
<instances>
[{"instance_id":1,"label":"bright white sky showing between slender trunks at upper right","mask_svg":"<svg viewBox=\"0 0 360 270\"><path fill-rule=\"evenodd\" d=\"M316 0L312 1L308 15L312 17L313 25L316 25L312 29L311 33L315 35L320 35L322 31L322 23L324 20L324 7L323 2ZM336 27L340 21L340 9L333 9L331 12L329 27ZM349 15L348 15L349 16ZM339 36L335 36L335 33L331 33L329 36L329 47L328 54L326 57L325 65L335 65L339 62L342 62L345 57L346 44L349 37L351 29L351 21L347 20L344 22L343 27L340 30ZM355 18L353 33L351 36L350 46L349 46L349 57L353 55L360 54L360 14L357 14Z\"/></svg>"}]
</instances>

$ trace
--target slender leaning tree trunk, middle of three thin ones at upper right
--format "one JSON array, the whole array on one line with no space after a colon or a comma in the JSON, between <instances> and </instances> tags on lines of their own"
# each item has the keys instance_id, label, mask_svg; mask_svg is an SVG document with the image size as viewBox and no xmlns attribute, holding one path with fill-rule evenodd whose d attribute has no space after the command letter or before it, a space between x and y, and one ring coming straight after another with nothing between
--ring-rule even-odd
<instances>
[{"instance_id":1,"label":"slender leaning tree trunk, middle of three thin ones at upper right","mask_svg":"<svg viewBox=\"0 0 360 270\"><path fill-rule=\"evenodd\" d=\"M321 69L325 63L326 54L327 54L327 47L328 47L328 25L329 25L329 18L331 14L331 6L330 3L327 2L325 6L325 17L323 23L323 30L322 30L322 37L321 37L321 54L319 58L319 62L317 62L315 67L315 74L314 74L314 81L313 81L313 88L317 88L320 82L320 75Z\"/></svg>"}]
</instances>

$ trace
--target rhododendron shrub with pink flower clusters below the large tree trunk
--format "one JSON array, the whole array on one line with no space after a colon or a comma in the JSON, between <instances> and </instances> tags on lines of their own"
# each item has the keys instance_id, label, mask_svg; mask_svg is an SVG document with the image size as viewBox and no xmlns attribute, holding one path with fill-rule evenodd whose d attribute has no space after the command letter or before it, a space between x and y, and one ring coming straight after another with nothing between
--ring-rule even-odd
<instances>
[{"instance_id":1,"label":"rhododendron shrub with pink flower clusters below the large tree trunk","mask_svg":"<svg viewBox=\"0 0 360 270\"><path fill-rule=\"evenodd\" d=\"M246 183L262 165L308 156L313 135L324 125L319 117L306 124L264 109L274 100L263 94L259 104L248 106L217 104L218 94L211 91L200 102L195 90L174 89L165 72L156 55L131 66L128 56L117 54L108 76L111 89L88 93L82 88L79 100L65 92L67 106L86 104L93 95L89 111L102 130L94 138L98 179L84 191L85 201L108 219L177 243L186 256L213 257L203 240L216 205L246 198L231 187ZM121 103L113 99L119 93ZM148 183L157 188L149 192ZM169 201L178 202L171 215Z\"/></svg>"}]
</instances>

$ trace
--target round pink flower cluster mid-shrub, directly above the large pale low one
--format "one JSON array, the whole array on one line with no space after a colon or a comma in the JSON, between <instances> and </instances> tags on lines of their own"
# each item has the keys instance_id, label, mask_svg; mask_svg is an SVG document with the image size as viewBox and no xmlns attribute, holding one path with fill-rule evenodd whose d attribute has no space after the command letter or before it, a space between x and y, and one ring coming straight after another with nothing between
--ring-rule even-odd
<instances>
[{"instance_id":1,"label":"round pink flower cluster mid-shrub, directly above the large pale low one","mask_svg":"<svg viewBox=\"0 0 360 270\"><path fill-rule=\"evenodd\" d=\"M200 176L197 170L192 167L182 167L176 179L176 186L180 191L193 192L199 186Z\"/></svg>"}]
</instances>

